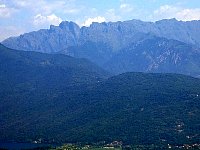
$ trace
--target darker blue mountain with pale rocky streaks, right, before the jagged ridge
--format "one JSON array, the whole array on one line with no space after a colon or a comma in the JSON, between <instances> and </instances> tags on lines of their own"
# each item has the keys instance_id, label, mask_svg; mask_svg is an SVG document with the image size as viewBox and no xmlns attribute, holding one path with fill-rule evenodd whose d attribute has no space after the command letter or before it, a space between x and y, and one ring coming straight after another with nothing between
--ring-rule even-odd
<instances>
[{"instance_id":1,"label":"darker blue mountain with pale rocky streaks, right, before the jagged ridge","mask_svg":"<svg viewBox=\"0 0 200 150\"><path fill-rule=\"evenodd\" d=\"M121 50L103 66L111 72L162 72L200 75L200 49L165 38L149 37Z\"/></svg>"}]
</instances>

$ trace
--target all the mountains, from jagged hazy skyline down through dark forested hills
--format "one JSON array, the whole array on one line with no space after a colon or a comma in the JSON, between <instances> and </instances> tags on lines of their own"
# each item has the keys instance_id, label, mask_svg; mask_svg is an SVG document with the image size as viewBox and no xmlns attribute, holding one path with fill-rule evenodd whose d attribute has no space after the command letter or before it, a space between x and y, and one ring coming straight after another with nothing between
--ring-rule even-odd
<instances>
[{"instance_id":1,"label":"all the mountains, from jagged hazy skyline down through dark forested hills","mask_svg":"<svg viewBox=\"0 0 200 150\"><path fill-rule=\"evenodd\" d=\"M198 144L199 29L175 19L65 21L6 39L0 141Z\"/></svg>"}]
</instances>

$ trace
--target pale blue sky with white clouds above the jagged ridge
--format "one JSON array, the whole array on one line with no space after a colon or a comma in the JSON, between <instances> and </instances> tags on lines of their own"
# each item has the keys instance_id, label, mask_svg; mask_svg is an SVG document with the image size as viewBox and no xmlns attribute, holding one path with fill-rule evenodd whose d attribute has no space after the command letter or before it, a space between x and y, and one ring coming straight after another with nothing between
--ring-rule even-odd
<instances>
[{"instance_id":1,"label":"pale blue sky with white clouds above the jagged ridge","mask_svg":"<svg viewBox=\"0 0 200 150\"><path fill-rule=\"evenodd\" d=\"M61 21L200 20L200 0L0 0L0 41Z\"/></svg>"}]
</instances>

